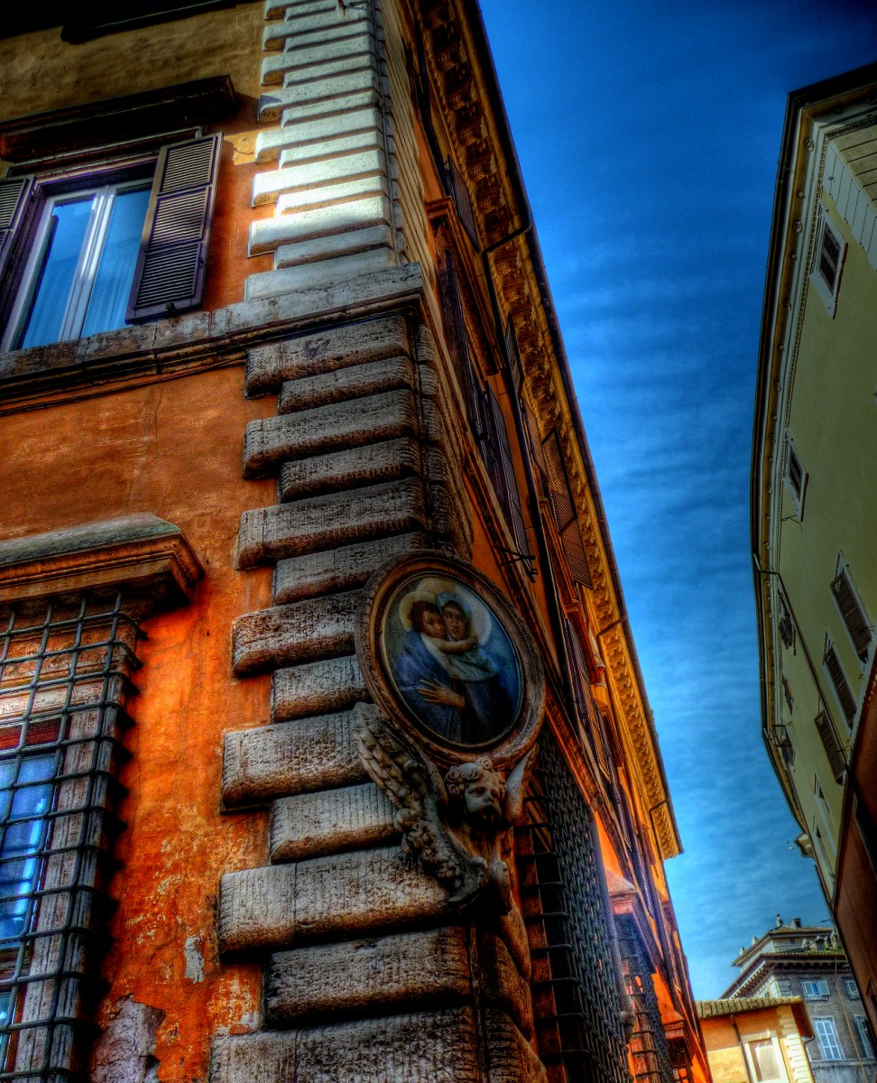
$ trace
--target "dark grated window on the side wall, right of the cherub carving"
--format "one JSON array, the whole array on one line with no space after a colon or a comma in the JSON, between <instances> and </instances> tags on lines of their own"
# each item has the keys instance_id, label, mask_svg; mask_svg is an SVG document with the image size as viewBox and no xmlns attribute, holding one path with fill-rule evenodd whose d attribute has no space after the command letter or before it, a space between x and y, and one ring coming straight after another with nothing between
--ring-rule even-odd
<instances>
[{"instance_id":1,"label":"dark grated window on the side wall, right of the cherub carving","mask_svg":"<svg viewBox=\"0 0 877 1083\"><path fill-rule=\"evenodd\" d=\"M515 850L539 1058L549 1083L630 1083L595 826L550 735L524 809Z\"/></svg>"}]
</instances>

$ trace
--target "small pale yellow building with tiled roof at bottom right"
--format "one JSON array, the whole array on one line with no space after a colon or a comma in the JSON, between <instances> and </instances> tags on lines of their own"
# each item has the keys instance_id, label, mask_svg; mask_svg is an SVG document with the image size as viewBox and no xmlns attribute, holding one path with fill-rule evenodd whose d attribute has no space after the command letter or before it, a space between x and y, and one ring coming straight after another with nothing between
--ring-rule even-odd
<instances>
[{"instance_id":1,"label":"small pale yellow building with tiled roof at bottom right","mask_svg":"<svg viewBox=\"0 0 877 1083\"><path fill-rule=\"evenodd\" d=\"M712 1083L812 1083L800 996L698 1001Z\"/></svg>"}]
</instances>

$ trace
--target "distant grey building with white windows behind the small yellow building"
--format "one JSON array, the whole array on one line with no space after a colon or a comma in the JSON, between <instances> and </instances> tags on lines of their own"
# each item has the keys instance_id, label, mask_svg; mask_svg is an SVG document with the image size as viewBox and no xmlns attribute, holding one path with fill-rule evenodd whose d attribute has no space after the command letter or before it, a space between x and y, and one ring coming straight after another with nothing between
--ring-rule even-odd
<instances>
[{"instance_id":1,"label":"distant grey building with white windows behind the small yellow building","mask_svg":"<svg viewBox=\"0 0 877 1083\"><path fill-rule=\"evenodd\" d=\"M830 926L801 925L800 917L785 925L777 915L776 926L754 937L734 966L739 967L739 976L725 990L725 997L747 1004L752 997L803 1002L815 1038L807 1052L816 1083L873 1083L877 1060L872 1031L849 962ZM755 1074L752 1079L773 1077ZM715 1083L720 1083L718 1077Z\"/></svg>"}]
</instances>

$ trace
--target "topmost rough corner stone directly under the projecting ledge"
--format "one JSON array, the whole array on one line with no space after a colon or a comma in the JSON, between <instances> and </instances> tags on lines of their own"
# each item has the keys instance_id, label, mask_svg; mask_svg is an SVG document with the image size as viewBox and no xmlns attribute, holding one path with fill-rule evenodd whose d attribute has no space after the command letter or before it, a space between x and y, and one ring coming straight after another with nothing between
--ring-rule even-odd
<instances>
[{"instance_id":1,"label":"topmost rough corner stone directly under the projecting ledge","mask_svg":"<svg viewBox=\"0 0 877 1083\"><path fill-rule=\"evenodd\" d=\"M247 392L264 394L286 380L333 373L394 355L409 355L403 316L333 325L247 351Z\"/></svg>"}]
</instances>

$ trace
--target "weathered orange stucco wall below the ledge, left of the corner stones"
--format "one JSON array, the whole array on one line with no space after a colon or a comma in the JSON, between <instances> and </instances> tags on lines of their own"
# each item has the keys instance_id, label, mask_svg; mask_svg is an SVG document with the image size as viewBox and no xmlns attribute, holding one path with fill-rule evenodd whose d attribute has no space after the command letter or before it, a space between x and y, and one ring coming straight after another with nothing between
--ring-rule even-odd
<instances>
[{"instance_id":1,"label":"weathered orange stucco wall below the ledge, left of the corner stones","mask_svg":"<svg viewBox=\"0 0 877 1083\"><path fill-rule=\"evenodd\" d=\"M145 622L138 650L108 930L123 950L105 960L96 1020L127 995L165 1012L162 1080L204 1078L209 1035L251 1029L259 1010L257 968L218 965L214 910L221 871L266 861L263 818L224 815L220 778L223 732L267 719L267 677L232 676L231 627L271 604L270 570L236 571L234 556L241 511L275 499L273 482L240 468L247 421L273 408L245 400L233 367L3 419L5 536L150 511L182 529L205 569L192 604Z\"/></svg>"}]
</instances>

